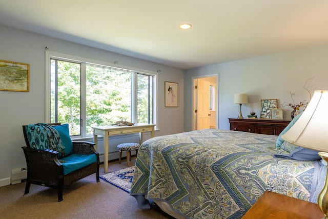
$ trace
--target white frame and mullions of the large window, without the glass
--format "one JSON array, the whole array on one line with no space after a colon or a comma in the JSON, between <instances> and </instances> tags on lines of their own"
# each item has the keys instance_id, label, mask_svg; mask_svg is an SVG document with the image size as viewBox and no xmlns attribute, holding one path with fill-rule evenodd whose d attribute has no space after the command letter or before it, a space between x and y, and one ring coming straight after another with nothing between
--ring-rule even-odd
<instances>
[{"instance_id":1,"label":"white frame and mullions of the large window, without the glass","mask_svg":"<svg viewBox=\"0 0 328 219\"><path fill-rule=\"evenodd\" d=\"M52 52L49 50L46 50L46 69L45 69L45 121L46 123L50 123L50 111L51 111L51 107L50 107L50 85L51 85L51 78L50 78L50 74L51 74L51 62L50 59L60 59L63 61L68 61L68 62L76 62L76 63L80 63L81 64L81 135L76 135L76 136L72 136L72 138L88 138L91 135L87 135L86 134L86 129L84 127L86 127L87 125L87 121L86 121L86 107L83 107L86 105L86 65L87 64L96 64L96 65L100 65L100 66L106 66L109 68L117 68L117 69L124 69L124 70L128 70L128 71L134 71L134 73L132 74L132 90L134 92L132 92L132 100L131 100L131 104L132 104L132 119L134 121L136 121L137 119L137 74L138 73L142 73L145 75L151 75L153 76L153 124L157 124L158 121L158 72L153 72L153 71L148 71L148 70L142 70L142 69L137 69L137 68L132 68L132 67L126 67L126 66L119 66L117 64L112 64L112 63L106 63L106 62L101 62L101 61L96 61L93 59L89 59L89 58L84 58L84 57L78 57L78 56L73 56L73 55L68 55L68 54L63 54L63 53L57 53L57 52ZM110 124L109 124L110 125ZM157 129L157 125L155 126L155 129Z\"/></svg>"}]
</instances>

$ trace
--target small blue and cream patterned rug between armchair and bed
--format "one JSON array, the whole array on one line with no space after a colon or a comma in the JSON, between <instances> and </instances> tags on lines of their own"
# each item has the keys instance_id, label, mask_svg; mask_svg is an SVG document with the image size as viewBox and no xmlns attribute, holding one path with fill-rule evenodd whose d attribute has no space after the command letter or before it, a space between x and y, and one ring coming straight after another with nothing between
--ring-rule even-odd
<instances>
[{"instance_id":1,"label":"small blue and cream patterned rug between armchair and bed","mask_svg":"<svg viewBox=\"0 0 328 219\"><path fill-rule=\"evenodd\" d=\"M108 172L104 175L99 176L99 178L104 181L130 193L132 177L134 172L134 166L127 167L120 170L115 170L113 172Z\"/></svg>"}]
</instances>

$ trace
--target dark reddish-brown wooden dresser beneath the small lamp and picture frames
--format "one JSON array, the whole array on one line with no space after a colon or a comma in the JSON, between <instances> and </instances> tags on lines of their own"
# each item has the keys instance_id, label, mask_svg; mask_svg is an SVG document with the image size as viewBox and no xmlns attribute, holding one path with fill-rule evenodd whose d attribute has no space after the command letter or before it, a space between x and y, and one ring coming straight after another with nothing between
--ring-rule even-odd
<instances>
[{"instance_id":1,"label":"dark reddish-brown wooden dresser beneath the small lamp and picture frames","mask_svg":"<svg viewBox=\"0 0 328 219\"><path fill-rule=\"evenodd\" d=\"M230 130L271 135L279 135L290 122L288 120L229 118Z\"/></svg>"}]
</instances>

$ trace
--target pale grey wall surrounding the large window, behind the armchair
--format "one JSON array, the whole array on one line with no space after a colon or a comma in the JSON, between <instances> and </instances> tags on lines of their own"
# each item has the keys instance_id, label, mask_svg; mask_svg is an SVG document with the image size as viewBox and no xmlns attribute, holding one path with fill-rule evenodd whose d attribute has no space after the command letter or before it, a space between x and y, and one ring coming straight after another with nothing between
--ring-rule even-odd
<instances>
[{"instance_id":1,"label":"pale grey wall surrounding the large window, behind the armchair","mask_svg":"<svg viewBox=\"0 0 328 219\"><path fill-rule=\"evenodd\" d=\"M25 145L22 125L45 122L45 47L49 51L95 59L102 62L118 62L147 71L160 70L158 85L158 131L155 135L183 131L183 70L137 58L99 50L60 39L35 34L0 25L0 60L30 65L30 91L0 91L0 186L6 185L11 169L26 167L22 146ZM166 108L164 82L179 84L179 106ZM104 152L104 151L102 151ZM101 151L99 151L101 153Z\"/></svg>"}]
</instances>

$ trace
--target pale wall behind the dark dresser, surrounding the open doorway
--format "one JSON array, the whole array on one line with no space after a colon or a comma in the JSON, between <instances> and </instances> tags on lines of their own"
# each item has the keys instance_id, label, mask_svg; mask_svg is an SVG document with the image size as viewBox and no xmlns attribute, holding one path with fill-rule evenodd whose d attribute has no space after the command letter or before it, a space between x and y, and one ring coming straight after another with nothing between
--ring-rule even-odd
<instances>
[{"instance_id":1,"label":"pale wall behind the dark dresser, surrounding the open doorway","mask_svg":"<svg viewBox=\"0 0 328 219\"><path fill-rule=\"evenodd\" d=\"M261 99L278 99L278 105L291 102L290 91L296 93L295 103L309 95L303 88L306 79L317 90L328 89L328 45L265 55L200 68L185 73L185 106L191 105L191 77L219 73L219 129L230 129L228 118L236 118L239 105L233 104L235 93L247 93L249 104L242 105L242 115L256 112L259 117ZM283 117L291 120L291 108L285 107ZM186 107L185 131L190 131L192 111Z\"/></svg>"}]
</instances>

